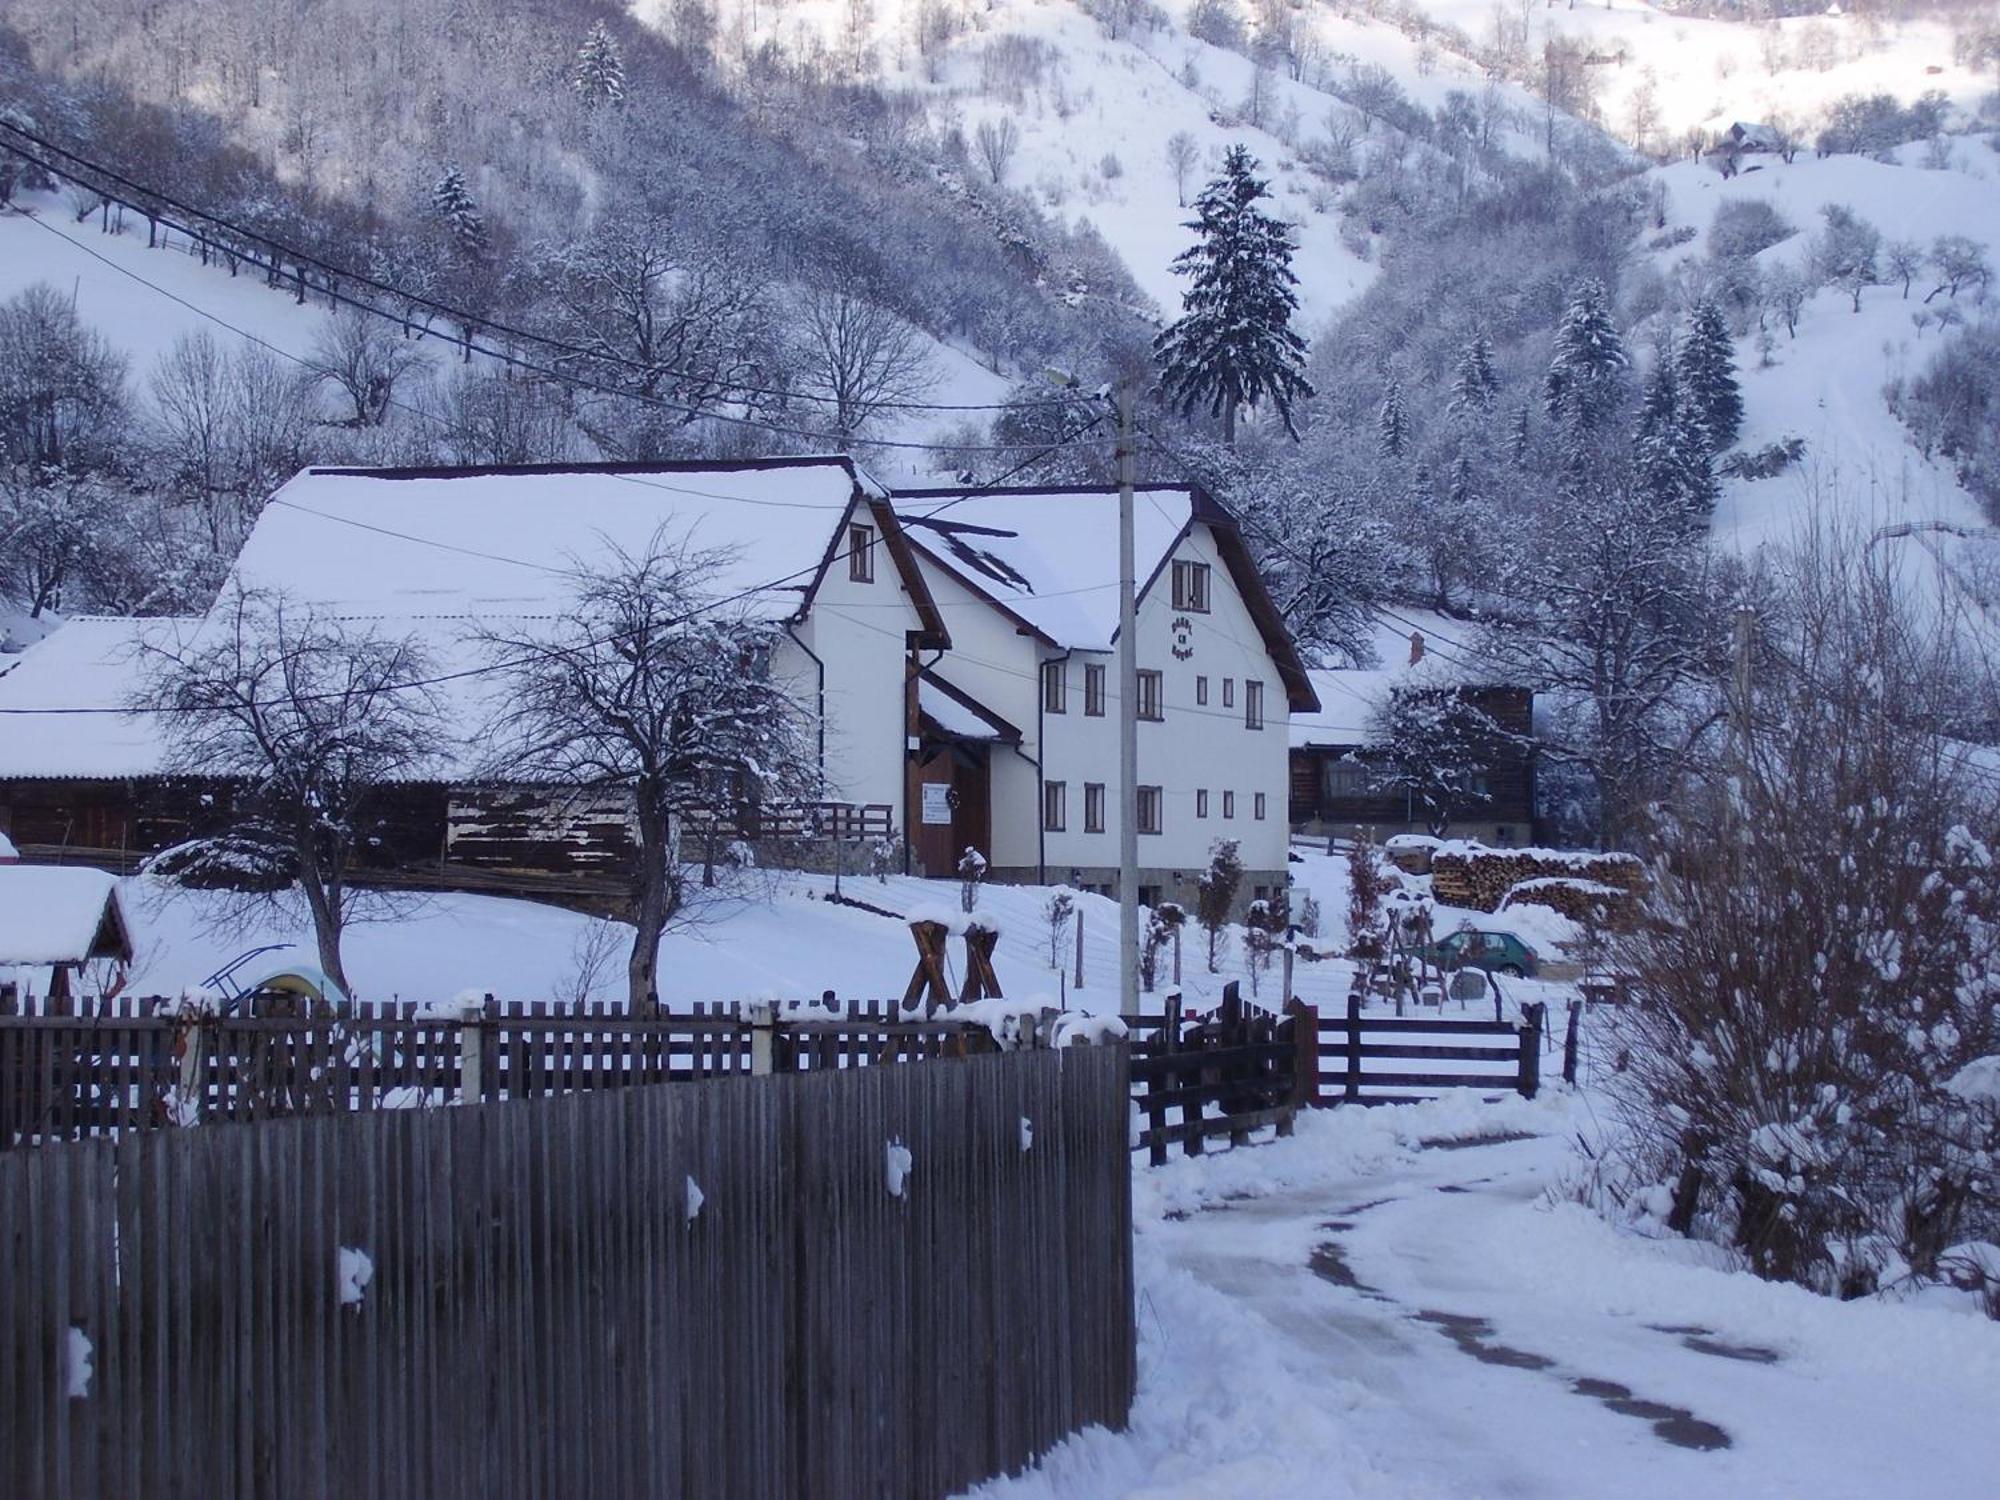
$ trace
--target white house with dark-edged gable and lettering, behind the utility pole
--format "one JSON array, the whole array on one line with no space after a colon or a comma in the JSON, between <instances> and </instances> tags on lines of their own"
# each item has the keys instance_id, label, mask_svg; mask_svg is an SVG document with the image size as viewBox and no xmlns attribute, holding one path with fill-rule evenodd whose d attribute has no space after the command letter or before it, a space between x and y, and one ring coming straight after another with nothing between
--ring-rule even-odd
<instances>
[{"instance_id":1,"label":"white house with dark-edged gable and lettering, behind the utility pole","mask_svg":"<svg viewBox=\"0 0 2000 1500\"><path fill-rule=\"evenodd\" d=\"M916 868L966 846L998 880L1118 876L1118 492L900 490L950 646L920 658ZM1286 744L1318 700L1234 518L1194 486L1136 496L1140 888L1192 900L1218 838L1246 898L1286 880Z\"/></svg>"}]
</instances>

